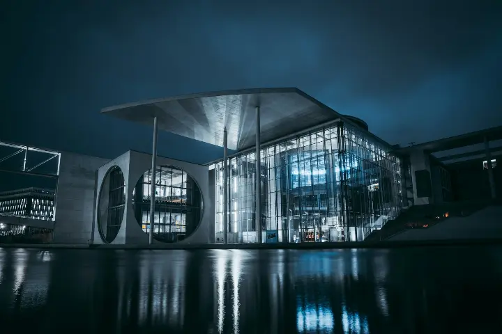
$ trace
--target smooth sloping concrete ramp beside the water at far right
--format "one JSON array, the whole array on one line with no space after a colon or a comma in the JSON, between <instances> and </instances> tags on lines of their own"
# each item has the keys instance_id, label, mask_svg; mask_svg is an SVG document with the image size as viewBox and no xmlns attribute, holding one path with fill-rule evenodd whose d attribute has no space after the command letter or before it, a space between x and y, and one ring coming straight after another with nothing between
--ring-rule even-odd
<instances>
[{"instance_id":1,"label":"smooth sloping concrete ramp beside the water at far right","mask_svg":"<svg viewBox=\"0 0 502 334\"><path fill-rule=\"evenodd\" d=\"M389 241L502 238L502 206L485 207L467 217L450 217L430 228L410 229Z\"/></svg>"}]
</instances>

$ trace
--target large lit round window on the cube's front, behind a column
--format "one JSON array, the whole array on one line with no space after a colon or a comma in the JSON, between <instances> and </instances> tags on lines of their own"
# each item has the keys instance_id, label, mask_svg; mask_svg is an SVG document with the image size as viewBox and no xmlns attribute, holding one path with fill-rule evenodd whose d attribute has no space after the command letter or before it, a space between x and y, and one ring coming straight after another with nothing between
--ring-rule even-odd
<instances>
[{"instance_id":1,"label":"large lit round window on the cube's front, behind a column","mask_svg":"<svg viewBox=\"0 0 502 334\"><path fill-rule=\"evenodd\" d=\"M132 207L143 232L149 233L151 205L151 169L139 177L132 195ZM190 236L200 223L202 196L188 173L174 166L155 168L155 209L153 237L176 242Z\"/></svg>"}]
</instances>

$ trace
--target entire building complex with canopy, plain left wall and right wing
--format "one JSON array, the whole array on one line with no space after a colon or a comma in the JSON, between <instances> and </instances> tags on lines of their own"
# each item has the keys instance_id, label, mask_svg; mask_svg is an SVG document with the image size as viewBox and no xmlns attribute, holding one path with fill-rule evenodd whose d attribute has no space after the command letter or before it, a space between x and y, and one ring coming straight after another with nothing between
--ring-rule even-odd
<instances>
[{"instance_id":1,"label":"entire building complex with canopy, plain left wall and right wing","mask_svg":"<svg viewBox=\"0 0 502 334\"><path fill-rule=\"evenodd\" d=\"M456 200L465 173L436 152L471 143L485 143L485 193L500 193L487 143L502 139L502 127L400 148L296 88L185 95L102 113L153 125L153 154L110 160L0 143L13 150L0 157L0 171L24 154L11 170L35 173L45 160L30 163L32 150L57 157L56 170L43 173L56 181L51 224L26 216L22 199L11 206L24 218L10 212L0 223L49 228L56 244L363 241L403 210ZM158 129L218 145L222 159L158 157Z\"/></svg>"}]
</instances>

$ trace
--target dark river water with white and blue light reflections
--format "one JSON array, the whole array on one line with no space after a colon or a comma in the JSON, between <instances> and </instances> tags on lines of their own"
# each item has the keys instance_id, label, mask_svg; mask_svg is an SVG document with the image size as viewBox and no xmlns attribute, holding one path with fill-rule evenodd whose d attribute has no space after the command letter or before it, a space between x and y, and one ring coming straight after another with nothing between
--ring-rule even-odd
<instances>
[{"instance_id":1,"label":"dark river water with white and blue light reflections","mask_svg":"<svg viewBox=\"0 0 502 334\"><path fill-rule=\"evenodd\" d=\"M502 329L501 255L496 246L0 248L0 321L30 333L493 332Z\"/></svg>"}]
</instances>

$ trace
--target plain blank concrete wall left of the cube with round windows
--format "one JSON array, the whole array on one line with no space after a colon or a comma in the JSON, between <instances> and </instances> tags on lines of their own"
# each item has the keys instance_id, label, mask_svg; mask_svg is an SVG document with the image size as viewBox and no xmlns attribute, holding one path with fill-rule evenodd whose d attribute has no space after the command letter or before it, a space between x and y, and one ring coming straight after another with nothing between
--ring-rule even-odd
<instances>
[{"instance_id":1,"label":"plain blank concrete wall left of the cube with round windows","mask_svg":"<svg viewBox=\"0 0 502 334\"><path fill-rule=\"evenodd\" d=\"M108 159L61 152L54 244L89 244L96 196L96 170Z\"/></svg>"}]
</instances>

